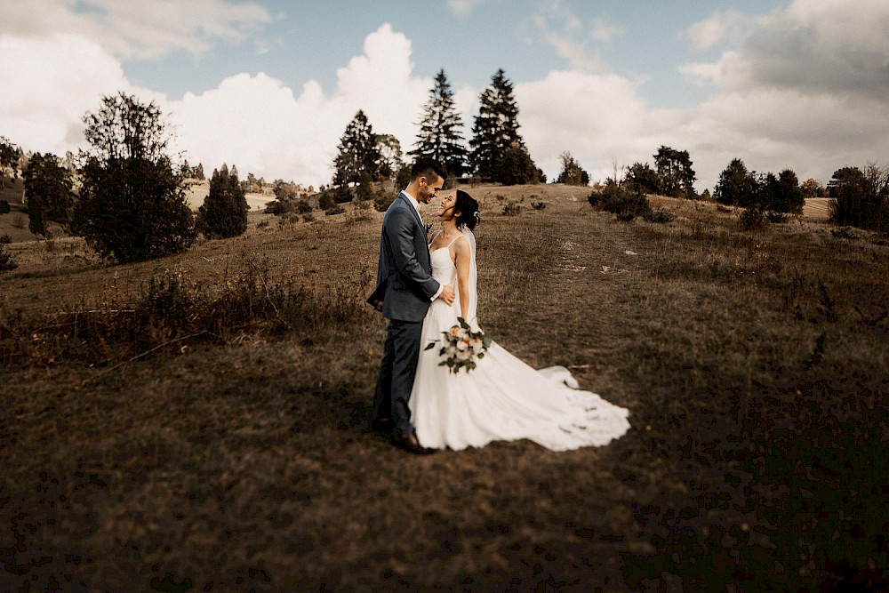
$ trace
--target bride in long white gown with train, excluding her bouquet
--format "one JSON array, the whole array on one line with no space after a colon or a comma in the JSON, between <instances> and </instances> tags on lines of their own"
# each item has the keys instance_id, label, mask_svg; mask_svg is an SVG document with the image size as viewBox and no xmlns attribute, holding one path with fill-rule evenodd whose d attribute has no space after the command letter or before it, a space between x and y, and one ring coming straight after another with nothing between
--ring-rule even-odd
<instances>
[{"instance_id":1,"label":"bride in long white gown with train, excluding her bouquet","mask_svg":"<svg viewBox=\"0 0 889 593\"><path fill-rule=\"evenodd\" d=\"M605 445L629 429L628 411L577 389L556 366L534 370L492 342L469 373L440 366L442 332L462 317L478 331L476 239L478 203L458 189L442 198L442 231L429 245L432 276L457 288L452 305L432 302L423 321L420 361L409 406L420 445L453 450L527 438L553 451Z\"/></svg>"}]
</instances>

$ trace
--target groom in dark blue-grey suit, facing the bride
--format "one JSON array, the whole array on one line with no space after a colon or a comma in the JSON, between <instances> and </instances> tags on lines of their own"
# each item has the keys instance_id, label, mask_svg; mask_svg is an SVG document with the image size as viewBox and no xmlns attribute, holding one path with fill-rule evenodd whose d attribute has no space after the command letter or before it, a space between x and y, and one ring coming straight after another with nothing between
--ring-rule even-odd
<instances>
[{"instance_id":1,"label":"groom in dark blue-grey suit, facing the bride","mask_svg":"<svg viewBox=\"0 0 889 593\"><path fill-rule=\"evenodd\" d=\"M420 333L429 304L454 300L453 286L432 277L426 226L420 205L428 204L445 184L447 173L436 160L420 157L411 167L411 181L383 217L377 287L367 299L388 318L388 333L371 426L392 433L392 442L411 453L431 453L420 445L407 401L420 357Z\"/></svg>"}]
</instances>

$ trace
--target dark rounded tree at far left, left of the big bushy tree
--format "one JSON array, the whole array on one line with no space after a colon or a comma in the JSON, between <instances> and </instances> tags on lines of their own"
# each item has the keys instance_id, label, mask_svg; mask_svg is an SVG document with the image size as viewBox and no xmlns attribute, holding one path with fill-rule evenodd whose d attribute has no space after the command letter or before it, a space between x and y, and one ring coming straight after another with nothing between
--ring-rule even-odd
<instances>
[{"instance_id":1,"label":"dark rounded tree at far left, left of the big bushy tree","mask_svg":"<svg viewBox=\"0 0 889 593\"><path fill-rule=\"evenodd\" d=\"M49 153L35 153L28 161L24 178L30 231L46 236L46 220L68 224L73 206L73 184L60 159Z\"/></svg>"}]
</instances>

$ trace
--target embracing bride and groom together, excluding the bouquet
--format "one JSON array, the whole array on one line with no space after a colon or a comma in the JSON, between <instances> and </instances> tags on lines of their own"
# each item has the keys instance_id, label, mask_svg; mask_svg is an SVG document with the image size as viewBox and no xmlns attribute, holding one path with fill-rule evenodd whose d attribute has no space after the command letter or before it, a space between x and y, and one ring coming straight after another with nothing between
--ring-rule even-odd
<instances>
[{"instance_id":1,"label":"embracing bride and groom together, excluding the bouquet","mask_svg":"<svg viewBox=\"0 0 889 593\"><path fill-rule=\"evenodd\" d=\"M420 454L522 438L566 451L620 437L629 429L627 410L577 389L564 367L534 370L492 342L475 370L451 373L439 365L439 349L426 348L458 317L478 331L477 201L459 189L444 196L436 212L442 230L431 243L420 217L446 175L441 164L420 157L383 217L377 287L368 302L389 323L372 428Z\"/></svg>"}]
</instances>

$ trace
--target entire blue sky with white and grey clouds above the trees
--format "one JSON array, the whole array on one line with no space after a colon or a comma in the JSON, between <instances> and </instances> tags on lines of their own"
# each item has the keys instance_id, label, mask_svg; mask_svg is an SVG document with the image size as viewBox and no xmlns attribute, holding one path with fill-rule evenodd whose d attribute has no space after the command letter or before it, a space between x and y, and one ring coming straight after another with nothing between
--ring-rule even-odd
<instances>
[{"instance_id":1,"label":"entire blue sky with white and grey clouds above the trees","mask_svg":"<svg viewBox=\"0 0 889 593\"><path fill-rule=\"evenodd\" d=\"M887 0L27 0L0 3L0 135L84 147L118 90L154 100L191 164L330 181L358 109L411 149L444 68L469 138L503 68L550 179L688 150L829 180L889 162Z\"/></svg>"}]
</instances>

